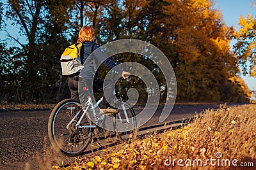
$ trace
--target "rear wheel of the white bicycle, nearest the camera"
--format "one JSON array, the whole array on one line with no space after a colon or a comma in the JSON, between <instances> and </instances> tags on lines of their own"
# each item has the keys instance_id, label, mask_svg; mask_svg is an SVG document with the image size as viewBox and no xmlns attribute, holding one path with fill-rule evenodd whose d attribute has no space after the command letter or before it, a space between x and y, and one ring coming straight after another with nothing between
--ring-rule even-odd
<instances>
[{"instance_id":1,"label":"rear wheel of the white bicycle, nearest the camera","mask_svg":"<svg viewBox=\"0 0 256 170\"><path fill-rule=\"evenodd\" d=\"M92 128L76 127L82 113L81 104L74 99L65 99L54 107L48 121L48 135L54 150L68 157L76 157L87 148L92 138ZM76 119L70 122L76 115ZM84 116L80 125L92 125L92 122Z\"/></svg>"}]
</instances>

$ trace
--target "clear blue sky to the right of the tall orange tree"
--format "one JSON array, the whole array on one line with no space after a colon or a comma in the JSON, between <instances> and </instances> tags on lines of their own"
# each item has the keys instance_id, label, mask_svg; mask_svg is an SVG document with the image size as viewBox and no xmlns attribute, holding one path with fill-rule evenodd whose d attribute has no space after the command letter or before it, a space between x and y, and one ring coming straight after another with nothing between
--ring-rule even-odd
<instances>
[{"instance_id":1,"label":"clear blue sky to the right of the tall orange tree","mask_svg":"<svg viewBox=\"0 0 256 170\"><path fill-rule=\"evenodd\" d=\"M230 27L234 26L239 29L238 20L241 15L246 18L249 13L253 17L256 15L256 10L251 6L256 3L256 0L213 0L216 9L220 10L223 14L224 22ZM248 85L250 90L256 90L256 78L250 76L241 76Z\"/></svg>"}]
</instances>

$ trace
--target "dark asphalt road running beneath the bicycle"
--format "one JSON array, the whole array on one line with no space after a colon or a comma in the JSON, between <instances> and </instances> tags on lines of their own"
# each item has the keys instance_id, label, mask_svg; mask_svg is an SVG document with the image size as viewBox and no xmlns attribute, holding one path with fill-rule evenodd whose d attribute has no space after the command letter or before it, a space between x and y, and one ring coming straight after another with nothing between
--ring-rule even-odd
<instances>
[{"instance_id":1,"label":"dark asphalt road running beneath the bicycle","mask_svg":"<svg viewBox=\"0 0 256 170\"><path fill-rule=\"evenodd\" d=\"M149 127L147 131L150 131L153 125L190 118L196 112L219 106L220 104L178 104L162 123L159 123L159 116L163 107L159 106L154 117L143 127ZM135 107L134 110L140 113L142 108ZM50 113L50 110L0 112L0 169L48 169L54 162L58 164L61 160L74 160L58 155L51 149L47 136ZM46 165L49 162L51 165Z\"/></svg>"}]
</instances>

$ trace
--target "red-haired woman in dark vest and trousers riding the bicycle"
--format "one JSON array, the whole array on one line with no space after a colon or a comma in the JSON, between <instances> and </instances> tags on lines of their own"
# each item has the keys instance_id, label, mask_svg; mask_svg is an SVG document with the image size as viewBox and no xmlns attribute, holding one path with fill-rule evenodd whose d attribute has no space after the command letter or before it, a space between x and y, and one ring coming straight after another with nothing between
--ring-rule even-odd
<instances>
[{"instance_id":1,"label":"red-haired woman in dark vest and trousers riding the bicycle","mask_svg":"<svg viewBox=\"0 0 256 170\"><path fill-rule=\"evenodd\" d=\"M82 43L80 58L81 64L83 64L84 68L81 71L80 76L84 79L85 87L81 87L81 89L78 90L77 75L68 77L68 87L71 92L71 98L79 100L78 93L80 92L80 94L83 94L80 95L81 103L83 103L83 100L86 101L86 96L92 95L93 92L103 91L104 81L97 78L98 73L97 71L95 71L95 62L100 62L109 69L112 69L114 67L113 69L119 74L121 74L124 78L125 76L130 74L129 72L123 71L122 68L116 66L115 62L106 57L106 55L104 55L104 53L102 53L100 50L97 50L97 48L99 47L94 43L94 39L95 30L92 27L83 26L79 31L77 43ZM97 50L94 53L95 55L88 59L88 56L94 50ZM114 87L112 87L111 85L104 88L103 101L100 104L100 111L103 113L117 113L117 110L115 108L112 108L108 103L109 99L113 96L113 90Z\"/></svg>"}]
</instances>

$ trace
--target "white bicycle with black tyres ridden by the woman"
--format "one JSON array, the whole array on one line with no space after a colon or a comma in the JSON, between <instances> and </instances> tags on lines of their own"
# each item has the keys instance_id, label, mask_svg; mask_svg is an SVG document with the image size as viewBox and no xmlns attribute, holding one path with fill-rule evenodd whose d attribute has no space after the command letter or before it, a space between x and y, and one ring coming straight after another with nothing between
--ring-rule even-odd
<instances>
[{"instance_id":1,"label":"white bicycle with black tyres ridden by the woman","mask_svg":"<svg viewBox=\"0 0 256 170\"><path fill-rule=\"evenodd\" d=\"M84 106L74 99L65 99L56 104L48 121L49 139L54 150L68 157L76 157L86 150L92 140L93 131L95 129L102 131L99 124L106 123L107 115L97 117L95 111L102 99L103 97L93 104L92 98L88 97ZM120 141L131 141L134 138L134 129L136 129L134 110L122 100L120 95L116 94L115 90L113 102L116 108L119 108L118 113L108 115L113 118L115 134ZM127 129L131 130L125 131Z\"/></svg>"}]
</instances>

